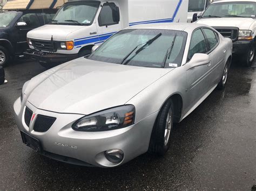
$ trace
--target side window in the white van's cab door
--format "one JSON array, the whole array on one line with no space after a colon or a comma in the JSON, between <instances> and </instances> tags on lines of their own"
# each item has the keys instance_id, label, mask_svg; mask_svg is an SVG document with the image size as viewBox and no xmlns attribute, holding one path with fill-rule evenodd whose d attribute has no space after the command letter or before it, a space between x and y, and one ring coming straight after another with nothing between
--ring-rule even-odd
<instances>
[{"instance_id":1,"label":"side window in the white van's cab door","mask_svg":"<svg viewBox=\"0 0 256 191\"><path fill-rule=\"evenodd\" d=\"M120 20L119 9L114 3L105 3L99 13L99 26L118 24Z\"/></svg>"}]
</instances>

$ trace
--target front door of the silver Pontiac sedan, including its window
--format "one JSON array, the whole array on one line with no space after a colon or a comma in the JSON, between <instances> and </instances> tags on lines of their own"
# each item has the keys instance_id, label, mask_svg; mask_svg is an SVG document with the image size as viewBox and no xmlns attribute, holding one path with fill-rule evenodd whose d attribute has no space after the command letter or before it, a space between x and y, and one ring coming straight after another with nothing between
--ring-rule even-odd
<instances>
[{"instance_id":1,"label":"front door of the silver Pontiac sedan, including its window","mask_svg":"<svg viewBox=\"0 0 256 191\"><path fill-rule=\"evenodd\" d=\"M188 62L190 65L190 59L196 53L207 53L208 47L206 39L204 37L201 29L197 29L192 33L190 48L188 50ZM211 62L210 62L211 63ZM209 63L209 64L210 64ZM188 68L190 68L188 66ZM196 104L201 97L203 97L211 83L211 77L209 75L210 67L209 65L197 66L190 68L186 71L187 74L187 93L190 99L191 105Z\"/></svg>"}]
</instances>

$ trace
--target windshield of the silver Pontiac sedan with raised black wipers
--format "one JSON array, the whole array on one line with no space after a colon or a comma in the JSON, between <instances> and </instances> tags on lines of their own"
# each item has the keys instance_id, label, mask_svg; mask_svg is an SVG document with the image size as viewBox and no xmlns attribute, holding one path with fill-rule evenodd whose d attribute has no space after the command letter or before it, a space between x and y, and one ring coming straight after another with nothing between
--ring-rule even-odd
<instances>
[{"instance_id":1,"label":"windshield of the silver Pontiac sedan with raised black wipers","mask_svg":"<svg viewBox=\"0 0 256 191\"><path fill-rule=\"evenodd\" d=\"M127 29L114 34L88 59L140 67L179 67L186 38L183 31Z\"/></svg>"}]
</instances>

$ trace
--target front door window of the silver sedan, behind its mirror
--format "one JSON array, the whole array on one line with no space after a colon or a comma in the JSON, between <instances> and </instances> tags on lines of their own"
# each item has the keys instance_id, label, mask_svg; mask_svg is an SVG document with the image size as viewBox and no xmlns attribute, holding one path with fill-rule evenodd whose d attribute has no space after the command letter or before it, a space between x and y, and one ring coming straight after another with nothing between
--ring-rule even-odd
<instances>
[{"instance_id":1,"label":"front door window of the silver sedan, behind its mirror","mask_svg":"<svg viewBox=\"0 0 256 191\"><path fill-rule=\"evenodd\" d=\"M203 32L200 29L194 31L191 37L190 49L188 51L187 59L191 60L193 55L196 53L206 53L206 47L206 40Z\"/></svg>"}]
</instances>

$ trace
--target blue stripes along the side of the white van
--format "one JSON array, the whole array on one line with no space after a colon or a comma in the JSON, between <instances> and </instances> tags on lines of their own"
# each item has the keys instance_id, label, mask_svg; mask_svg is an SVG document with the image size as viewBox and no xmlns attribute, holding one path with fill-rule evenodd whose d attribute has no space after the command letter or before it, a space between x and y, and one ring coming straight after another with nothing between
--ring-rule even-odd
<instances>
[{"instance_id":1,"label":"blue stripes along the side of the white van","mask_svg":"<svg viewBox=\"0 0 256 191\"><path fill-rule=\"evenodd\" d=\"M172 18L158 19L158 20L146 20L143 22L130 23L129 25L133 26L133 25L138 25L138 24L172 23L174 18L177 16L177 13L179 11L182 1L183 0L179 0L178 5L172 15ZM100 34L97 36L90 36L90 37L75 39L75 46L91 44L91 43L94 43L94 44L103 43L106 39L110 38L114 33L116 33L116 32L110 32L110 33ZM76 47L76 48L78 48L78 47Z\"/></svg>"}]
</instances>

